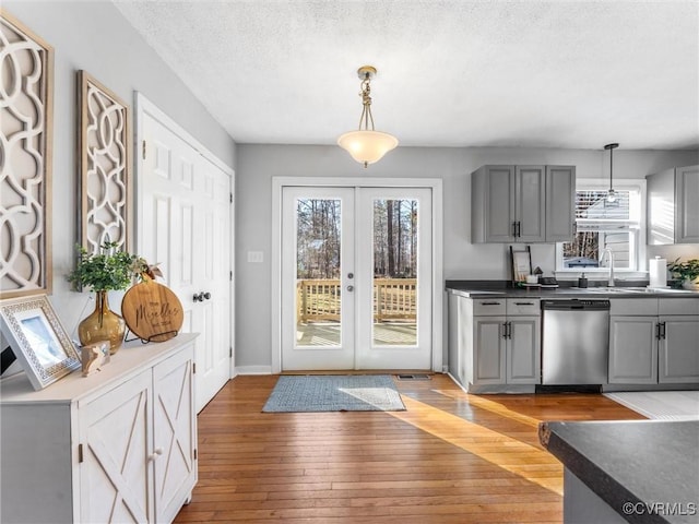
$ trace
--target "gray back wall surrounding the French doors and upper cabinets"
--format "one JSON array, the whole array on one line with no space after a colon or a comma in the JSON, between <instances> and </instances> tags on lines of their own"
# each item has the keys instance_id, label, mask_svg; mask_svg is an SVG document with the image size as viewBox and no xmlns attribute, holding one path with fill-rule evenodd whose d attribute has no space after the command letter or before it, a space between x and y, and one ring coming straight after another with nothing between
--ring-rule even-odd
<instances>
[{"instance_id":1,"label":"gray back wall surrounding the French doors and upper cabinets","mask_svg":"<svg viewBox=\"0 0 699 524\"><path fill-rule=\"evenodd\" d=\"M592 150L401 147L364 169L337 146L238 144L236 202L236 366L271 365L272 177L406 177L443 180L445 278L507 279L507 245L471 243L471 172L484 164L574 165L580 178L608 179L608 156ZM699 164L699 152L614 154L614 177L643 178ZM695 251L696 251L695 246ZM262 251L263 263L248 263ZM657 254L657 253L654 253ZM532 247L532 260L550 273L554 245Z\"/></svg>"}]
</instances>

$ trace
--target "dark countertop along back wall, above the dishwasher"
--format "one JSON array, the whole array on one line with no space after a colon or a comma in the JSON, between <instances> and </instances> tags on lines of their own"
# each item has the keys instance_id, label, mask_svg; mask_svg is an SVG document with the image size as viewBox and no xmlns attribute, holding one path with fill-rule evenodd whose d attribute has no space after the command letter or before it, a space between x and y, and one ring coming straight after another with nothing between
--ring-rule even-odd
<instances>
[{"instance_id":1,"label":"dark countertop along back wall, above the dishwasher","mask_svg":"<svg viewBox=\"0 0 699 524\"><path fill-rule=\"evenodd\" d=\"M511 287L508 281L447 281L447 291L466 298L699 298L699 291L674 288L649 288L643 282L625 282L615 287L579 288L561 282L557 288Z\"/></svg>"}]
</instances>

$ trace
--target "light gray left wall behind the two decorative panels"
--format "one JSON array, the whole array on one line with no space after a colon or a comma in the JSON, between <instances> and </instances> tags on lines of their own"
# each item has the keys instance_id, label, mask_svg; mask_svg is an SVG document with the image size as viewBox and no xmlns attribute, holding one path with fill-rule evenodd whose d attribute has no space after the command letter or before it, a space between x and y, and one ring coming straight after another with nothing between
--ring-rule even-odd
<instances>
[{"instance_id":1,"label":"light gray left wall behind the two decorative panels","mask_svg":"<svg viewBox=\"0 0 699 524\"><path fill-rule=\"evenodd\" d=\"M2 9L55 49L50 300L72 335L87 306L87 294L70 291L64 278L73 267L79 238L76 71L82 69L92 74L131 104L132 110L133 93L143 93L232 167L236 145L111 2L3 0ZM118 302L112 307L118 310Z\"/></svg>"}]
</instances>

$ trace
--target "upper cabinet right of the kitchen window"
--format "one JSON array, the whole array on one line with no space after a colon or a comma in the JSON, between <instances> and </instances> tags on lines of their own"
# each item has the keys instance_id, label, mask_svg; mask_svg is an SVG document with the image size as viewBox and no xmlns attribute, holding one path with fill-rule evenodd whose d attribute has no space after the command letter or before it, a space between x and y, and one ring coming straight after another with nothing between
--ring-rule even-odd
<instances>
[{"instance_id":1,"label":"upper cabinet right of the kitchen window","mask_svg":"<svg viewBox=\"0 0 699 524\"><path fill-rule=\"evenodd\" d=\"M699 243L699 166L649 175L648 243Z\"/></svg>"}]
</instances>

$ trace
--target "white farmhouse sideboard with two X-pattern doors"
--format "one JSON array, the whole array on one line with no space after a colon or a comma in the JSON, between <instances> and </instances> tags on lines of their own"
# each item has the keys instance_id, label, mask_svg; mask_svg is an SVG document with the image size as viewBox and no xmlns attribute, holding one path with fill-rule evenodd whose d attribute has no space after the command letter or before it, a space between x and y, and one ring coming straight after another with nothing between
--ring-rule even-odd
<instances>
[{"instance_id":1,"label":"white farmhouse sideboard with two X-pattern doors","mask_svg":"<svg viewBox=\"0 0 699 524\"><path fill-rule=\"evenodd\" d=\"M196 334L2 391L2 522L171 522L197 483Z\"/></svg>"}]
</instances>

